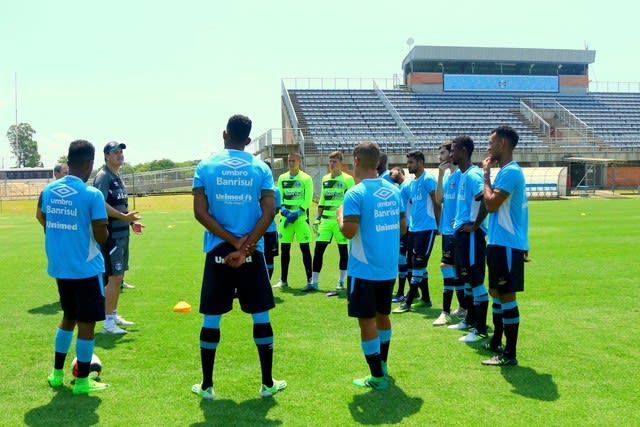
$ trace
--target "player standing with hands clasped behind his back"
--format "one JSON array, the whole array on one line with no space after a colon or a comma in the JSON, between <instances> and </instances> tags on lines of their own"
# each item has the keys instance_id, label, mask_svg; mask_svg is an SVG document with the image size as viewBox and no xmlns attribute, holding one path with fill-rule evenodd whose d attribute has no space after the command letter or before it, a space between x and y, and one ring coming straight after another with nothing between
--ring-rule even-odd
<instances>
[{"instance_id":1,"label":"player standing with hands clasped behind his back","mask_svg":"<svg viewBox=\"0 0 640 427\"><path fill-rule=\"evenodd\" d=\"M220 342L220 320L231 311L237 295L240 308L251 314L262 385L260 396L271 397L287 383L271 376L273 330L269 310L275 307L263 255L262 235L275 215L273 177L269 167L244 151L251 142L251 120L234 115L222 133L225 149L196 167L193 212L205 228L207 254L200 313L202 382L191 391L205 400L215 397L213 368Z\"/></svg>"}]
</instances>

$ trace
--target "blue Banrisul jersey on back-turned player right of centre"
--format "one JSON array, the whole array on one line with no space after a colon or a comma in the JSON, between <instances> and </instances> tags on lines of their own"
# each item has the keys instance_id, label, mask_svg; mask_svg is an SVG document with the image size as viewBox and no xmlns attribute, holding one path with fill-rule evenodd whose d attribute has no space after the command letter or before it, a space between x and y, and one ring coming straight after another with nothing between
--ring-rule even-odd
<instances>
[{"instance_id":1,"label":"blue Banrisul jersey on back-turned player right of centre","mask_svg":"<svg viewBox=\"0 0 640 427\"><path fill-rule=\"evenodd\" d=\"M382 178L364 179L344 195L344 217L358 217L347 273L367 280L390 280L398 273L400 191Z\"/></svg>"}]
</instances>

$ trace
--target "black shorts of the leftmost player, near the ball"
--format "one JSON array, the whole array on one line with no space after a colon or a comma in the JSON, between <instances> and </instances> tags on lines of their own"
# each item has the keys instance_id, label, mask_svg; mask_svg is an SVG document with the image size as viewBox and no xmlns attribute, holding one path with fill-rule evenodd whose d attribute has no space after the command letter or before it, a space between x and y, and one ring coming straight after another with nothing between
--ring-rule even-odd
<instances>
[{"instance_id":1,"label":"black shorts of the leftmost player, near the ball","mask_svg":"<svg viewBox=\"0 0 640 427\"><path fill-rule=\"evenodd\" d=\"M102 275L86 279L56 279L64 318L77 322L104 320Z\"/></svg>"}]
</instances>

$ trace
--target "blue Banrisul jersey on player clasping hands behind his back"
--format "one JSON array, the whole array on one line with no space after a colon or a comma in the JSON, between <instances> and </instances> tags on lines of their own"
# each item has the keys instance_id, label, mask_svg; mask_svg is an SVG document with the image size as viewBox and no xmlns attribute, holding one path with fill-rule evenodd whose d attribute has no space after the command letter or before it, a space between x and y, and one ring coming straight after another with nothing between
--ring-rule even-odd
<instances>
[{"instance_id":1,"label":"blue Banrisul jersey on player clasping hands behind his back","mask_svg":"<svg viewBox=\"0 0 640 427\"><path fill-rule=\"evenodd\" d=\"M209 215L236 237L247 235L262 216L263 191L273 191L269 167L250 153L223 150L196 167L193 188L204 188ZM209 252L224 240L209 230L204 232L204 251ZM256 250L263 252L260 239Z\"/></svg>"}]
</instances>

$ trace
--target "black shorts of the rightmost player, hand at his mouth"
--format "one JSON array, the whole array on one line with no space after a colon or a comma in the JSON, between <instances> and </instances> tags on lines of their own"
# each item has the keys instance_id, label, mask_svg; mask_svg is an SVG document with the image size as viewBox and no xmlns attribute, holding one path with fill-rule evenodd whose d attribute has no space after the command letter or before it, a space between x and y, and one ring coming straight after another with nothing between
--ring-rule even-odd
<instances>
[{"instance_id":1,"label":"black shorts of the rightmost player, hand at his mouth","mask_svg":"<svg viewBox=\"0 0 640 427\"><path fill-rule=\"evenodd\" d=\"M489 288L499 294L524 291L524 255L526 251L500 245L487 246Z\"/></svg>"}]
</instances>

